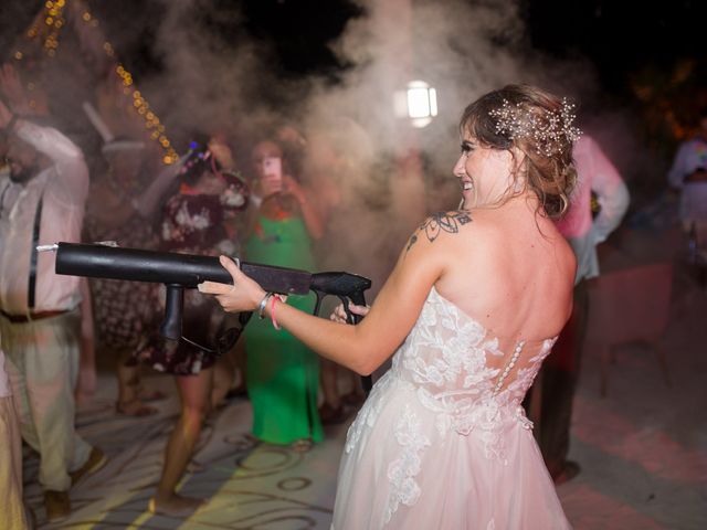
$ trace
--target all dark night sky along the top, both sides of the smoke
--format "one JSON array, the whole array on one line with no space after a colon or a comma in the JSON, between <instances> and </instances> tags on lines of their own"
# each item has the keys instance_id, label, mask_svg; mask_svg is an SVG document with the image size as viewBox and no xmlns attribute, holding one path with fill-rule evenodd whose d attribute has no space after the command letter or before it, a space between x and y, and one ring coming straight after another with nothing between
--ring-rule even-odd
<instances>
[{"instance_id":1,"label":"all dark night sky along the top, both sides of the smoke","mask_svg":"<svg viewBox=\"0 0 707 530\"><path fill-rule=\"evenodd\" d=\"M384 1L384 0L376 0ZM414 0L413 6L414 6ZM440 4L444 0L439 0ZM483 1L485 6L493 2ZM635 0L517 0L525 22L525 50L563 60L588 57L602 85L599 105L633 108L642 134L665 152L689 134L699 106L707 105L707 1L673 0L651 7ZM150 24L162 18L163 0L88 0L120 60L137 80L159 76ZM194 18L224 45L253 39L273 45L268 66L281 78L317 74L336 82L346 65L327 47L363 10L352 0L208 0ZM474 4L474 1L469 1ZM0 1L0 53L23 31L39 0ZM678 83L676 72L688 63ZM639 94L643 91L643 95ZM646 95L647 94L647 95ZM267 97L264 92L263 95Z\"/></svg>"}]
</instances>

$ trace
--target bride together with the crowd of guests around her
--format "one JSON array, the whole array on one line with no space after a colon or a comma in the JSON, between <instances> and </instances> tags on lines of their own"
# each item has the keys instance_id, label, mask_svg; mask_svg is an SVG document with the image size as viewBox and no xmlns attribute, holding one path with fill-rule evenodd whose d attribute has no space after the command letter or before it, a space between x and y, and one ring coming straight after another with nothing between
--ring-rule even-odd
<instances>
[{"instance_id":1,"label":"bride together with the crowd of guests around her","mask_svg":"<svg viewBox=\"0 0 707 530\"><path fill-rule=\"evenodd\" d=\"M245 391L253 424L244 443L296 452L362 405L346 441L333 528L569 526L553 483L579 470L567 453L584 280L599 274L595 245L629 203L598 144L580 138L571 105L509 85L464 110L453 171L462 203L423 219L400 242L371 306L350 307L365 317L354 327L342 306L316 318L313 296L266 293L235 265L358 272L346 230L362 221L347 186L351 160L333 137L274 124L236 161L228 137L207 131L163 166L135 137L82 151L51 116L28 110L20 85L4 67L7 528L28 523L21 439L40 455L49 521L71 515L71 488L107 462L75 428L76 400L91 399L94 384L78 375L82 365L91 372L93 356L115 364L115 413L124 416L158 412L155 401L165 396L145 384L146 370L175 379L180 414L148 504L154 513L188 516L204 504L179 494L180 478L208 414ZM594 218L591 193L601 204ZM36 247L60 241L221 256L234 285L187 289L182 338L167 340L158 332L163 287L55 275L53 255ZM250 321L240 318L246 314ZM233 328L239 339L224 346ZM521 404L546 357L540 453ZM359 375L390 359L367 399Z\"/></svg>"}]
</instances>

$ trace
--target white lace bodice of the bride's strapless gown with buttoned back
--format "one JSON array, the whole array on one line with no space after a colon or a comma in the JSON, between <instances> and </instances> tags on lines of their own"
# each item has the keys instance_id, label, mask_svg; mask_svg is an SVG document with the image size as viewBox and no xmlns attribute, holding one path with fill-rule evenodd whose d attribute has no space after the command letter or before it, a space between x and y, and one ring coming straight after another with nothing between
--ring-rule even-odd
<instances>
[{"instance_id":1,"label":"white lace bodice of the bride's strapless gown with buttoned back","mask_svg":"<svg viewBox=\"0 0 707 530\"><path fill-rule=\"evenodd\" d=\"M393 356L392 368L351 425L346 451L366 426L373 426L384 405L382 396L395 386L413 392L418 403L434 413L440 435L476 430L485 439L487 456L502 457L503 427L518 422L532 426L520 402L556 340L519 340L504 352L498 337L432 287L418 321Z\"/></svg>"}]
</instances>

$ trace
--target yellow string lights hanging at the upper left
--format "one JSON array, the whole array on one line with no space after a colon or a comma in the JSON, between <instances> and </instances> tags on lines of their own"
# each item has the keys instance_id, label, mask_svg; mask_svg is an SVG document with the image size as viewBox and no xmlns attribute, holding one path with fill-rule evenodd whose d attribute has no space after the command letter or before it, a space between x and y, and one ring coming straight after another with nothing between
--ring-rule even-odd
<instances>
[{"instance_id":1,"label":"yellow string lights hanging at the upper left","mask_svg":"<svg viewBox=\"0 0 707 530\"><path fill-rule=\"evenodd\" d=\"M42 17L38 17L27 32L27 36L30 41L38 36L42 36L44 39L42 49L50 57L54 57L59 49L59 33L66 22L63 12L67 1L68 0L46 0L46 2L44 2ZM91 28L98 26L98 20L88 11L88 9L84 9L81 14L81 20ZM115 49L108 41L103 43L103 51L112 61L115 60ZM13 56L14 60L19 62L24 59L24 53L21 50L17 50ZM124 96L128 98L127 106L133 109L137 116L143 118L145 129L150 131L150 139L158 142L162 148L162 162L165 165L175 163L179 156L172 147L169 138L167 138L167 135L165 134L165 126L160 123L155 110L150 109L149 104L140 92L135 89L133 75L120 63L117 64L114 72L118 76L119 83L123 86ZM34 89L34 83L28 83L28 89L32 92ZM34 100L30 102L30 107L34 108L35 105L36 103Z\"/></svg>"}]
</instances>

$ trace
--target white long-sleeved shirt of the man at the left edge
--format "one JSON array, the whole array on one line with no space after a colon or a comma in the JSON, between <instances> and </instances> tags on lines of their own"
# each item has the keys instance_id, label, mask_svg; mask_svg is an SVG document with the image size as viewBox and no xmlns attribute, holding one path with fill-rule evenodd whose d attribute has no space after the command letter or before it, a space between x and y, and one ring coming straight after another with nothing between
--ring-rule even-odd
<instances>
[{"instance_id":1,"label":"white long-sleeved shirt of the man at the left edge","mask_svg":"<svg viewBox=\"0 0 707 530\"><path fill-rule=\"evenodd\" d=\"M53 163L25 183L0 176L0 309L28 312L28 283L34 216L43 195L39 244L80 242L88 169L81 150L59 130L18 121L20 138ZM34 311L66 310L80 300L78 277L54 273L54 253L38 259Z\"/></svg>"}]
</instances>

